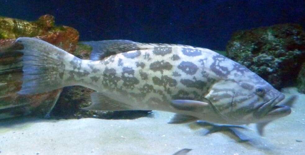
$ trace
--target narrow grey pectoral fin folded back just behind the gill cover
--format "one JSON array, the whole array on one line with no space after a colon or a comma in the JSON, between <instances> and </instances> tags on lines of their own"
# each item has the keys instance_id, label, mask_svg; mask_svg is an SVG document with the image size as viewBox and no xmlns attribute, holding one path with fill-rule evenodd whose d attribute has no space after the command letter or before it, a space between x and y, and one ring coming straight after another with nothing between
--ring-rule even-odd
<instances>
[{"instance_id":1,"label":"narrow grey pectoral fin folded back just behind the gill cover","mask_svg":"<svg viewBox=\"0 0 305 155\"><path fill-rule=\"evenodd\" d=\"M209 103L194 100L172 100L171 105L177 110L200 112L209 106Z\"/></svg>"}]
</instances>

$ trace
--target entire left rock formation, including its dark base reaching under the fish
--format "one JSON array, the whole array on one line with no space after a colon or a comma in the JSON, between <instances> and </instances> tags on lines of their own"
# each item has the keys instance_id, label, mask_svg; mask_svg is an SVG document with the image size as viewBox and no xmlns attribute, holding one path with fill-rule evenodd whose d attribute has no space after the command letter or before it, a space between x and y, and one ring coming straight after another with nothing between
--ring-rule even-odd
<instances>
[{"instance_id":1,"label":"entire left rock formation, including its dark base reaching under the fish","mask_svg":"<svg viewBox=\"0 0 305 155\"><path fill-rule=\"evenodd\" d=\"M91 104L90 94L93 92L82 86L66 87L62 94L62 89L37 95L16 93L22 85L22 54L16 50L23 47L15 43L18 37L37 37L81 59L89 59L92 48L78 44L77 30L67 26L57 27L54 23L54 17L51 15L43 15L34 22L0 17L0 119L30 113L49 116L55 105L53 117L118 119L146 116L148 111L81 110Z\"/></svg>"}]
</instances>

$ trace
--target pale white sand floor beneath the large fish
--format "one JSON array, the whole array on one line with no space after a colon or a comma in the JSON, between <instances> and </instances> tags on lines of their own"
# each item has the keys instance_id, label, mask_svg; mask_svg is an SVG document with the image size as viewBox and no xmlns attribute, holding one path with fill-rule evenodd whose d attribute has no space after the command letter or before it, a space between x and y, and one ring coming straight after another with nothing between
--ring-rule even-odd
<instances>
[{"instance_id":1,"label":"pale white sand floor beneath the large fish","mask_svg":"<svg viewBox=\"0 0 305 155\"><path fill-rule=\"evenodd\" d=\"M305 95L297 94L292 113L266 126L265 138L239 143L229 132L203 135L207 129L196 123L166 122L173 113L154 112L154 118L135 120L45 120L19 118L0 122L2 154L173 154L182 148L198 154L305 154ZM302 141L302 142L297 142ZM252 145L251 145L252 144Z\"/></svg>"}]
</instances>

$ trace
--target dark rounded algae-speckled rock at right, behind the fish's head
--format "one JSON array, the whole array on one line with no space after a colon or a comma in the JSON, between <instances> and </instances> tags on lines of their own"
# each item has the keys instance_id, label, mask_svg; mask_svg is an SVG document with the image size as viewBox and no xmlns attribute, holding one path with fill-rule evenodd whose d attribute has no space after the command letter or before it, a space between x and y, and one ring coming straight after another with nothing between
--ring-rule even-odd
<instances>
[{"instance_id":1,"label":"dark rounded algae-speckled rock at right, behind the fish's head","mask_svg":"<svg viewBox=\"0 0 305 155\"><path fill-rule=\"evenodd\" d=\"M305 62L305 32L298 24L239 31L226 48L227 56L280 89L294 82Z\"/></svg>"}]
</instances>

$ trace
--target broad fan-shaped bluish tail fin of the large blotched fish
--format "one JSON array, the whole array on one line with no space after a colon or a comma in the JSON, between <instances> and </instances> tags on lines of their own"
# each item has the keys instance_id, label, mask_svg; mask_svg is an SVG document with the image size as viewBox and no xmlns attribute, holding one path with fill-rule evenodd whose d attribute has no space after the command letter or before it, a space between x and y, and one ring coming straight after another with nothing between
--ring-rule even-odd
<instances>
[{"instance_id":1,"label":"broad fan-shaped bluish tail fin of the large blotched fish","mask_svg":"<svg viewBox=\"0 0 305 155\"><path fill-rule=\"evenodd\" d=\"M19 94L38 94L66 86L63 77L67 73L67 60L74 55L35 38L18 38L16 42L24 46L23 78ZM76 57L75 57L76 58Z\"/></svg>"}]
</instances>

